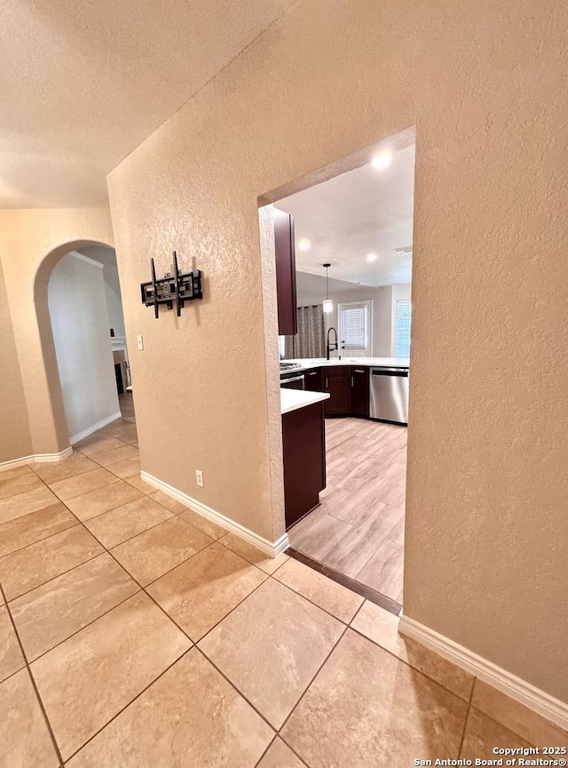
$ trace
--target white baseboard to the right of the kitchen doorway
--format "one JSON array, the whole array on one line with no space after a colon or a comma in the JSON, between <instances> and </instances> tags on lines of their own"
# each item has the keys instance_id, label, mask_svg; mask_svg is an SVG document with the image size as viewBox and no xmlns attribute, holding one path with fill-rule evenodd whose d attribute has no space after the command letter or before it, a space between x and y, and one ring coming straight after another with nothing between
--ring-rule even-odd
<instances>
[{"instance_id":1,"label":"white baseboard to the right of the kitchen doorway","mask_svg":"<svg viewBox=\"0 0 568 768\"><path fill-rule=\"evenodd\" d=\"M564 701L540 691L539 688L535 688L534 685L511 674L506 669L498 667L492 661L478 656L477 653L469 651L468 648L455 643L449 637L439 635L433 629L425 627L407 616L400 618L398 631L401 635L430 648L430 651L438 653L438 656L451 661L456 667L465 669L471 675L493 685L493 688L506 693L511 699L533 709L533 712L537 712L564 730L568 730L568 704Z\"/></svg>"}]
</instances>

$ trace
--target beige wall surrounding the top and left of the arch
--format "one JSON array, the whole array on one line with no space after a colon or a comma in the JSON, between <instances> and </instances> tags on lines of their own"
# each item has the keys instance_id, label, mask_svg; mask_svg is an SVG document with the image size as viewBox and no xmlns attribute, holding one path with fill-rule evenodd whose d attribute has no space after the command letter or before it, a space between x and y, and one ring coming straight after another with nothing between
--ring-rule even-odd
<instances>
[{"instance_id":1,"label":"beige wall surrounding the top and left of the arch","mask_svg":"<svg viewBox=\"0 0 568 768\"><path fill-rule=\"evenodd\" d=\"M0 259L33 453L60 452L69 444L47 306L47 283L51 269L62 256L93 242L113 244L108 209L0 211ZM18 382L14 382L13 390L21 391ZM9 458L19 459L19 450L13 444L13 455Z\"/></svg>"}]
</instances>

